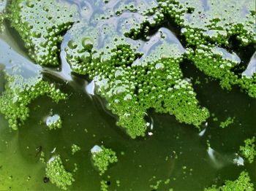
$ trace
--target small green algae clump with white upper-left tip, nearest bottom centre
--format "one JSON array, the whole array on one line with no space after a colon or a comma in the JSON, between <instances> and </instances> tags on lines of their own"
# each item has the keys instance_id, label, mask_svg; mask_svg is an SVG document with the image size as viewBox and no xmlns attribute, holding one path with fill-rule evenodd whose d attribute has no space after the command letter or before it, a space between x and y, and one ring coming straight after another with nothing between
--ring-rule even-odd
<instances>
[{"instance_id":1,"label":"small green algae clump with white upper-left tip, nearest bottom centre","mask_svg":"<svg viewBox=\"0 0 256 191\"><path fill-rule=\"evenodd\" d=\"M91 149L91 157L94 166L98 169L99 175L105 173L108 167L112 163L117 163L118 159L116 157L116 152L112 149L105 148L104 146L94 146Z\"/></svg>"}]
</instances>

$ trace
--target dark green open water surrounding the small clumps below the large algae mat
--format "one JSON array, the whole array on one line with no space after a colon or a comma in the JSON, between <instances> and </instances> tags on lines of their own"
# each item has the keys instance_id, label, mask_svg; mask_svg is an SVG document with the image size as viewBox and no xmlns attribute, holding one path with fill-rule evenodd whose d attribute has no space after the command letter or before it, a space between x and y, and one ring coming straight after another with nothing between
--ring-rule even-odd
<instances>
[{"instance_id":1,"label":"dark green open water surrounding the small clumps below the large algae mat","mask_svg":"<svg viewBox=\"0 0 256 191\"><path fill-rule=\"evenodd\" d=\"M89 83L86 79L69 76L64 63L62 73L40 69L29 61L17 38L10 28L1 34L1 65L10 73L16 73L11 66L18 64L24 76L42 70L45 79L55 82L69 98L59 104L46 97L38 98L30 105L29 120L18 131L10 131L4 116L0 115L0 190L57 190L55 185L43 181L45 165L39 161L39 147L46 158L55 150L69 171L74 163L78 164L70 190L99 190L102 179L110 182L110 190L153 190L150 185L159 180L162 180L159 190L203 190L211 184L222 185L225 179L236 179L243 170L249 172L256 184L256 160L252 164L234 163L244 139L256 136L256 101L238 88L228 93L218 82L206 80L191 64L184 64L184 76L193 77L201 105L219 121L211 117L202 127L204 131L199 132L190 125L178 123L173 116L150 111L148 119L153 135L132 140L116 126L115 117L106 112L102 104L104 101L86 93ZM195 84L197 77L200 85ZM61 116L63 128L48 130L43 121L50 112ZM236 117L235 122L228 128L220 128L219 123L227 117ZM81 151L72 155L72 144L80 146ZM96 144L113 149L118 156L118 163L111 165L104 176L99 176L91 163L90 149ZM170 182L165 184L167 179ZM120 187L116 180L121 182Z\"/></svg>"}]
</instances>

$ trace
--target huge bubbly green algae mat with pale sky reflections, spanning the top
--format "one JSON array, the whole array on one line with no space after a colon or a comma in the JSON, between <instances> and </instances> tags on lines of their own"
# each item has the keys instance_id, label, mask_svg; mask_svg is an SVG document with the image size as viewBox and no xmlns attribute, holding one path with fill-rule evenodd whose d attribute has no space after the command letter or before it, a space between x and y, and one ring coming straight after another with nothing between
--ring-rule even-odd
<instances>
[{"instance_id":1,"label":"huge bubbly green algae mat with pale sky reflections, spanning the top","mask_svg":"<svg viewBox=\"0 0 256 191\"><path fill-rule=\"evenodd\" d=\"M42 65L58 65L59 44L70 28L64 50L72 71L94 82L118 117L117 125L132 138L145 136L148 109L196 127L208 119L208 109L200 106L181 72L183 62L194 63L227 90L238 85L256 98L256 74L237 74L241 59L230 52L234 36L241 47L256 42L253 1L88 3L91 12L83 9L78 16L78 7L64 2L16 0L10 5L10 21L31 58ZM233 17L235 13L239 16ZM165 20L173 20L186 46L162 28ZM154 28L159 29L152 35Z\"/></svg>"}]
</instances>

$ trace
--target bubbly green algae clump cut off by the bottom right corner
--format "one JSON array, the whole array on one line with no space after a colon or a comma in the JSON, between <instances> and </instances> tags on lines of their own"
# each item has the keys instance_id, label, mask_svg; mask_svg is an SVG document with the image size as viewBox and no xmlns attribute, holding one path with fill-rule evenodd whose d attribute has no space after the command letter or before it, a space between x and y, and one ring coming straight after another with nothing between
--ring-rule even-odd
<instances>
[{"instance_id":1,"label":"bubbly green algae clump cut off by the bottom right corner","mask_svg":"<svg viewBox=\"0 0 256 191\"><path fill-rule=\"evenodd\" d=\"M234 181L227 180L222 187L213 185L212 187L206 188L205 191L253 191L254 185L250 181L249 174L246 171L242 171L238 179Z\"/></svg>"}]
</instances>

